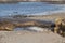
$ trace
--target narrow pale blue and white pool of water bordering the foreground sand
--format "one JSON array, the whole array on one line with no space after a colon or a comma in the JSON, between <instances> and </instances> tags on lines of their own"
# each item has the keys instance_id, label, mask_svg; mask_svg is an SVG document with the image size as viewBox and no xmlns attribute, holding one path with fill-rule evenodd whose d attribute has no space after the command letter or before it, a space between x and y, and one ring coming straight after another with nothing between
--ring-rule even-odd
<instances>
[{"instance_id":1,"label":"narrow pale blue and white pool of water bordering the foreground sand","mask_svg":"<svg viewBox=\"0 0 65 43\"><path fill-rule=\"evenodd\" d=\"M40 27L25 27L25 28L15 28L14 31L18 30L27 30L27 31L37 31L37 32L42 32L43 28Z\"/></svg>"}]
</instances>

